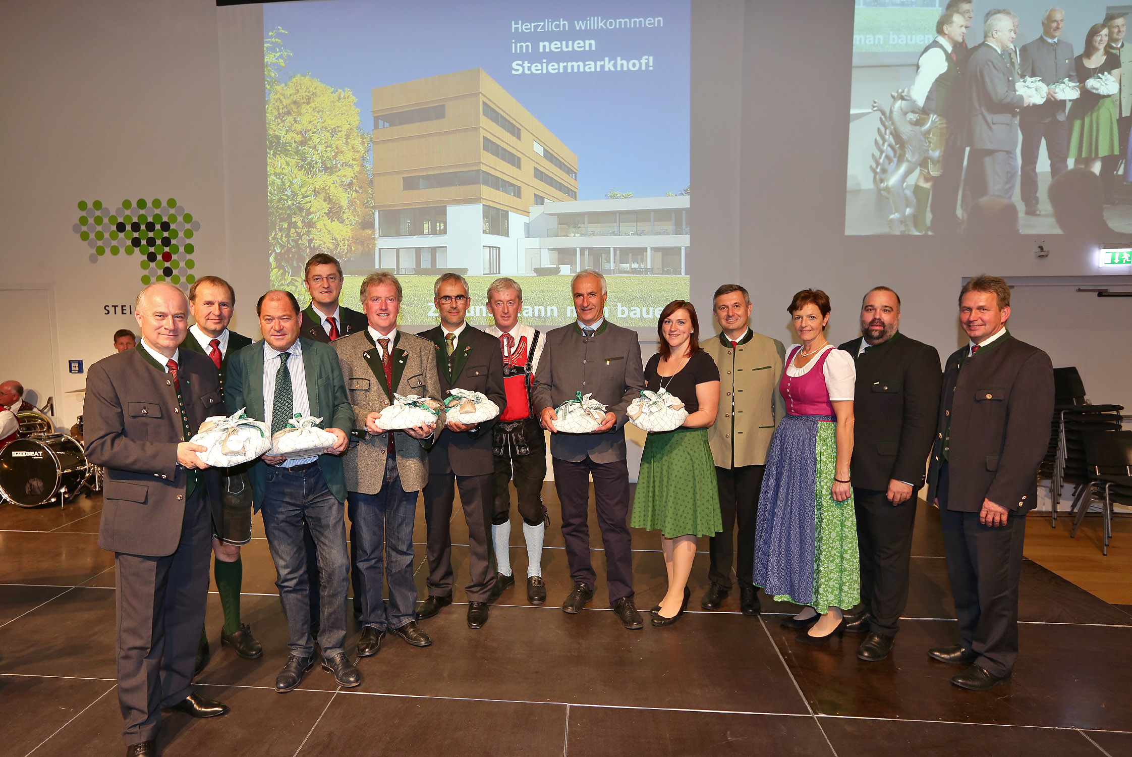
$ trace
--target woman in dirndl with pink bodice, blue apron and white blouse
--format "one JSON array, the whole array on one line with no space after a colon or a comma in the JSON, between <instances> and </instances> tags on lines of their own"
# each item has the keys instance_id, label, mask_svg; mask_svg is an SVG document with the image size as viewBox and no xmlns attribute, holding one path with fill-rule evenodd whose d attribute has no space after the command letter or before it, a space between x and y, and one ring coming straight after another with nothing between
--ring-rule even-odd
<instances>
[{"instance_id":1,"label":"woman in dirndl with pink bodice, blue apron and white blouse","mask_svg":"<svg viewBox=\"0 0 1132 757\"><path fill-rule=\"evenodd\" d=\"M852 356L825 340L830 298L804 289L788 308L800 345L787 354L786 400L758 499L754 582L780 602L806 605L782 621L798 640L825 644L860 601L852 457Z\"/></svg>"}]
</instances>

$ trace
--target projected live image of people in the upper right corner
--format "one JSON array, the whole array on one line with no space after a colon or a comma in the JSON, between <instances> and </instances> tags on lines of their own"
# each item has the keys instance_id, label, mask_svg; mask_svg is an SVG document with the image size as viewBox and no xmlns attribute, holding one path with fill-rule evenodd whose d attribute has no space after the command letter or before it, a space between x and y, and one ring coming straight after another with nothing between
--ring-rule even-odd
<instances>
[{"instance_id":1,"label":"projected live image of people in the upper right corner","mask_svg":"<svg viewBox=\"0 0 1132 757\"><path fill-rule=\"evenodd\" d=\"M856 0L846 233L1132 232L1126 16L1101 0ZM1060 184L1089 190L1052 190L1072 169L1094 178Z\"/></svg>"}]
</instances>

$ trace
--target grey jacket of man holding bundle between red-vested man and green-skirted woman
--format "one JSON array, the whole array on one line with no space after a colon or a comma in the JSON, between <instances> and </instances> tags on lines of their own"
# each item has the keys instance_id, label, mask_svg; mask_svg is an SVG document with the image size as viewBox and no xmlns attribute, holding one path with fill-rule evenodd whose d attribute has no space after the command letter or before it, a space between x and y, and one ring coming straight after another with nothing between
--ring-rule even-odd
<instances>
[{"instance_id":1,"label":"grey jacket of man holding bundle between red-vested man and green-skirted woman","mask_svg":"<svg viewBox=\"0 0 1132 757\"><path fill-rule=\"evenodd\" d=\"M644 388L635 331L607 320L593 337L583 335L576 322L548 332L532 386L534 412L541 415L544 408L557 408L582 392L593 394L617 416L604 434L551 434L550 454L571 462L588 457L594 462L624 460L625 409Z\"/></svg>"}]
</instances>

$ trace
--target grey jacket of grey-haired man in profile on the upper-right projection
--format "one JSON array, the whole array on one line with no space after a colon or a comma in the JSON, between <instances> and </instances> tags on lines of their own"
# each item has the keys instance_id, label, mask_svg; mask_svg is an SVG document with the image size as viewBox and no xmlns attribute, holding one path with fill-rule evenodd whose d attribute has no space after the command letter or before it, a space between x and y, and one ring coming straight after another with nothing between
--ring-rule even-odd
<instances>
[{"instance_id":1,"label":"grey jacket of grey-haired man in profile on the upper-right projection","mask_svg":"<svg viewBox=\"0 0 1132 757\"><path fill-rule=\"evenodd\" d=\"M984 42L971 50L963 73L968 147L1018 150L1018 114L1026 100L1014 91L1015 83L997 48Z\"/></svg>"}]
</instances>

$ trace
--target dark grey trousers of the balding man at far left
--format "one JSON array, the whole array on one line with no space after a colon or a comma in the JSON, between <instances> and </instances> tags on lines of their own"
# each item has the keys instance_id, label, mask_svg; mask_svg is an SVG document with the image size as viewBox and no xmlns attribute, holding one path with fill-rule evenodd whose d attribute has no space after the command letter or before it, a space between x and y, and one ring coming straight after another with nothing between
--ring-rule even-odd
<instances>
[{"instance_id":1,"label":"dark grey trousers of the balding man at far left","mask_svg":"<svg viewBox=\"0 0 1132 757\"><path fill-rule=\"evenodd\" d=\"M212 512L200 487L185 503L173 554L114 555L118 704L127 746L156 739L161 708L192 692L211 554Z\"/></svg>"}]
</instances>

